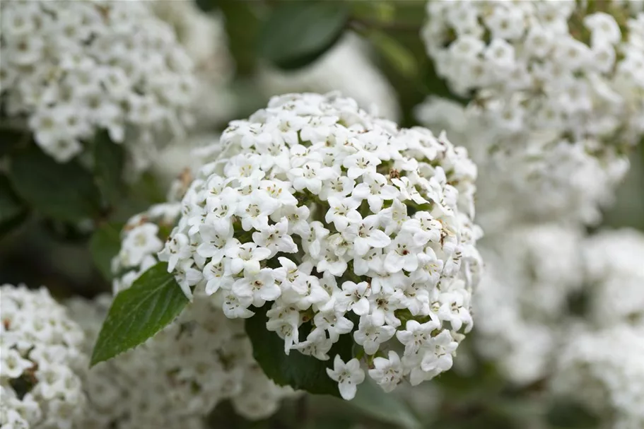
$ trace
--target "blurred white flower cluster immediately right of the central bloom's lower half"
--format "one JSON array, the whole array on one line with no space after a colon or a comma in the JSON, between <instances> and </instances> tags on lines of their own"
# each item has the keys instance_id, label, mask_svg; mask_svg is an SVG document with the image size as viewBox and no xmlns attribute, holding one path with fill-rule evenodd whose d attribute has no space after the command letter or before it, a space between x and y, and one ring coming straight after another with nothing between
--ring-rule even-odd
<instances>
[{"instance_id":1,"label":"blurred white flower cluster immediately right of the central bloom's lower half","mask_svg":"<svg viewBox=\"0 0 644 429\"><path fill-rule=\"evenodd\" d=\"M515 227L487 240L486 272L474 295L476 348L508 380L529 384L549 374L582 287L582 235L554 224Z\"/></svg>"}]
</instances>

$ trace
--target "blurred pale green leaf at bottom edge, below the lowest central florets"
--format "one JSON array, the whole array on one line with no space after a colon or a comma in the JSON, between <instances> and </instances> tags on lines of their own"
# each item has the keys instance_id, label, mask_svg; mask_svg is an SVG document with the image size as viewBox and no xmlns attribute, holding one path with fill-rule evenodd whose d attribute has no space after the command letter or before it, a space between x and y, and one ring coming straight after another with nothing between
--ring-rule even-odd
<instances>
[{"instance_id":1,"label":"blurred pale green leaf at bottom edge, below the lowest central florets","mask_svg":"<svg viewBox=\"0 0 644 429\"><path fill-rule=\"evenodd\" d=\"M399 396L385 393L369 377L358 386L358 393L349 405L377 421L392 423L400 428L420 428L421 422Z\"/></svg>"}]
</instances>

